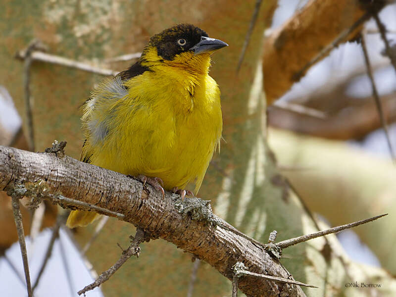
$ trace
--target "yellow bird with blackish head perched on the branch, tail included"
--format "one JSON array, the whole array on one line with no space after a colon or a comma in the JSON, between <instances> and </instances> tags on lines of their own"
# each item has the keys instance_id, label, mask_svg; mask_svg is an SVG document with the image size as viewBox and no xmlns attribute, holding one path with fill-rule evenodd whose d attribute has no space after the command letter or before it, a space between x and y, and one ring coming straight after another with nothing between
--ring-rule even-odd
<instances>
[{"instance_id":1,"label":"yellow bird with blackish head perched on the branch, tail included","mask_svg":"<svg viewBox=\"0 0 396 297\"><path fill-rule=\"evenodd\" d=\"M222 131L210 55L226 46L191 24L151 37L139 60L84 104L81 159L161 191L197 195ZM74 210L67 226L86 226L97 215Z\"/></svg>"}]
</instances>

